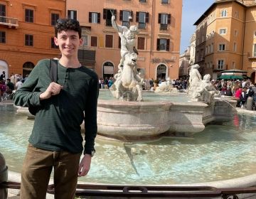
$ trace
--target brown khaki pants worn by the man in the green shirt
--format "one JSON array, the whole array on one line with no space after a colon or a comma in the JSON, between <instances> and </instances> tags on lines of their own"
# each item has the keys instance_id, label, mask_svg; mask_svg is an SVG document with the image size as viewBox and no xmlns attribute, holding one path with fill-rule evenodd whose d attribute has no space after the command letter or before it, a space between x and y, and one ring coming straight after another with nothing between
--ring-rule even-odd
<instances>
[{"instance_id":1,"label":"brown khaki pants worn by the man in the green shirt","mask_svg":"<svg viewBox=\"0 0 256 199\"><path fill-rule=\"evenodd\" d=\"M46 151L28 144L21 173L21 199L45 199L52 168L55 199L75 198L80 155Z\"/></svg>"}]
</instances>

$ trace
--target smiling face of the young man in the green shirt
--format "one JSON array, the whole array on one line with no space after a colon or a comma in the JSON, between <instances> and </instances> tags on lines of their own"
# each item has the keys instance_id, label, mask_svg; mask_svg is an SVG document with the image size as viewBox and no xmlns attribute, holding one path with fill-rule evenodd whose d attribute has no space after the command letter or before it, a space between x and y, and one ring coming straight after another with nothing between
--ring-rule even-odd
<instances>
[{"instance_id":1,"label":"smiling face of the young man in the green shirt","mask_svg":"<svg viewBox=\"0 0 256 199\"><path fill-rule=\"evenodd\" d=\"M54 38L55 45L58 45L62 55L67 57L77 56L78 48L82 45L82 38L79 38L76 31L62 31Z\"/></svg>"}]
</instances>

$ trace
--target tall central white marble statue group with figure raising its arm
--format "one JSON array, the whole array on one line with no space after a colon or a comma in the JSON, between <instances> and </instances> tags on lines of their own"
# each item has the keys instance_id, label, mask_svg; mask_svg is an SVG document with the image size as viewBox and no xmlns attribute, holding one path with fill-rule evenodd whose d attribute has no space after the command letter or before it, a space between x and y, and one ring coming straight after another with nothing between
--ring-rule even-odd
<instances>
[{"instance_id":1,"label":"tall central white marble statue group with figure raising its arm","mask_svg":"<svg viewBox=\"0 0 256 199\"><path fill-rule=\"evenodd\" d=\"M118 31L121 38L121 60L118 65L118 72L114 75L116 80L110 91L117 99L123 101L139 101L142 99L142 84L144 79L137 71L137 55L138 51L135 48L136 34L138 33L137 26L119 26L115 21L115 16L112 16L112 26Z\"/></svg>"}]
</instances>

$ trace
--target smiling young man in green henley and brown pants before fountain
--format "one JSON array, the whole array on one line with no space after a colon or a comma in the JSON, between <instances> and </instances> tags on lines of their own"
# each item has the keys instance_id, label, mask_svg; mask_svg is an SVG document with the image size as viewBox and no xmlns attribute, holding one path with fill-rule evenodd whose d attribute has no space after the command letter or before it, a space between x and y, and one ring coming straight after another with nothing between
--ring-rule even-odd
<instances>
[{"instance_id":1,"label":"smiling young man in green henley and brown pants before fountain","mask_svg":"<svg viewBox=\"0 0 256 199\"><path fill-rule=\"evenodd\" d=\"M61 52L58 81L50 80L50 60L40 60L14 96L16 105L38 107L23 162L21 199L46 198L52 168L55 198L75 198L78 176L87 175L95 152L98 77L78 60L79 22L59 19L54 41ZM85 149L80 161L83 120Z\"/></svg>"}]
</instances>

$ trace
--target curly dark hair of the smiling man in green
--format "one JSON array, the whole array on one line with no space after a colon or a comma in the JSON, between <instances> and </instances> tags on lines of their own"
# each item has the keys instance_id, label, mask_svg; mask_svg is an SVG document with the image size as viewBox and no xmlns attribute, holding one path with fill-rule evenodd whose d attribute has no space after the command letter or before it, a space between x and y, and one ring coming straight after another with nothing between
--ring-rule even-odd
<instances>
[{"instance_id":1,"label":"curly dark hair of the smiling man in green","mask_svg":"<svg viewBox=\"0 0 256 199\"><path fill-rule=\"evenodd\" d=\"M82 29L79 21L71 18L59 18L55 25L55 37L57 37L58 33L61 33L61 31L68 30L78 32L79 38L82 37Z\"/></svg>"}]
</instances>

